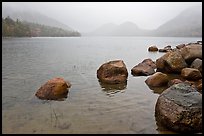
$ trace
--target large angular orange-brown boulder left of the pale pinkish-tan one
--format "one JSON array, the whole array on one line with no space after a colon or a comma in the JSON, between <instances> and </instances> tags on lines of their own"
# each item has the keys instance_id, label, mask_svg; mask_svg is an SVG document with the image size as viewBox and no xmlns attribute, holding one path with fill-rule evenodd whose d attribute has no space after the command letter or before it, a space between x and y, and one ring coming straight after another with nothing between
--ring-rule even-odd
<instances>
[{"instance_id":1,"label":"large angular orange-brown boulder left of the pale pinkish-tan one","mask_svg":"<svg viewBox=\"0 0 204 136\"><path fill-rule=\"evenodd\" d=\"M180 73L187 64L178 50L167 52L156 60L157 71Z\"/></svg>"}]
</instances>

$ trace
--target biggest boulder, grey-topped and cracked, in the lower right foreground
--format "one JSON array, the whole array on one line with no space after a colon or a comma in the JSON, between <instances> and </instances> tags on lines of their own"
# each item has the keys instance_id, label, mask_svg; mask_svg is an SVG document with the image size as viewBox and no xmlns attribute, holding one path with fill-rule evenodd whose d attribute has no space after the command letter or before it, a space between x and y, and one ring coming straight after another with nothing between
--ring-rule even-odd
<instances>
[{"instance_id":1,"label":"biggest boulder, grey-topped and cracked, in the lower right foreground","mask_svg":"<svg viewBox=\"0 0 204 136\"><path fill-rule=\"evenodd\" d=\"M158 97L157 124L177 132L202 132L202 94L187 83L174 84Z\"/></svg>"}]
</instances>

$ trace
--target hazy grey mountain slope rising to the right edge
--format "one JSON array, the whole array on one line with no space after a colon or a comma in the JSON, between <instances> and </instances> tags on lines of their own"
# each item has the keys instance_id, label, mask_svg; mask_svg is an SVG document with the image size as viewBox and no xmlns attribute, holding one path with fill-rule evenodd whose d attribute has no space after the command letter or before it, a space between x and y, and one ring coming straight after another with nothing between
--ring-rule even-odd
<instances>
[{"instance_id":1,"label":"hazy grey mountain slope rising to the right edge","mask_svg":"<svg viewBox=\"0 0 204 136\"><path fill-rule=\"evenodd\" d=\"M181 12L154 31L155 36L202 36L202 7Z\"/></svg>"}]
</instances>

